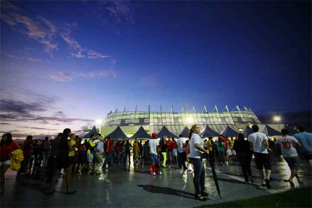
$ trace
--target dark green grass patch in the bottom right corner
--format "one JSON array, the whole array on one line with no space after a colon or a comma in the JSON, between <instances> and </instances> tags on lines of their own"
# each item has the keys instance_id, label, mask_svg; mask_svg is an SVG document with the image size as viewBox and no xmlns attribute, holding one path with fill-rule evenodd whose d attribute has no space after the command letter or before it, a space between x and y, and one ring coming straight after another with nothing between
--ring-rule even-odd
<instances>
[{"instance_id":1,"label":"dark green grass patch in the bottom right corner","mask_svg":"<svg viewBox=\"0 0 312 208\"><path fill-rule=\"evenodd\" d=\"M198 207L311 207L311 187Z\"/></svg>"}]
</instances>

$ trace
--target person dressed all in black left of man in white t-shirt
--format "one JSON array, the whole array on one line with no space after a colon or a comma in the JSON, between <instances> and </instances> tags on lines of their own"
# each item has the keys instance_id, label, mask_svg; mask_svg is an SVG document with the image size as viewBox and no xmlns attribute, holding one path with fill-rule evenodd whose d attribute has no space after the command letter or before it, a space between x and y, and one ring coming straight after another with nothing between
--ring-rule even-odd
<instances>
[{"instance_id":1,"label":"person dressed all in black left of man in white t-shirt","mask_svg":"<svg viewBox=\"0 0 312 208\"><path fill-rule=\"evenodd\" d=\"M242 166L245 183L253 183L254 179L250 168L253 152L251 150L250 142L245 140L243 133L237 135L237 140L234 142L232 149L236 151L237 159Z\"/></svg>"}]
</instances>

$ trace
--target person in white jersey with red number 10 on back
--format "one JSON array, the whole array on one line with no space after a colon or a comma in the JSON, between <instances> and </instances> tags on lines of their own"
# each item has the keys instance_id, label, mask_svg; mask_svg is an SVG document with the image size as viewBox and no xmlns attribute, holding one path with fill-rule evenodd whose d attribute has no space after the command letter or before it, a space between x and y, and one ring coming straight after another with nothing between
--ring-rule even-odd
<instances>
[{"instance_id":1,"label":"person in white jersey with red number 10 on back","mask_svg":"<svg viewBox=\"0 0 312 208\"><path fill-rule=\"evenodd\" d=\"M282 136L277 140L277 145L281 148L283 158L287 162L291 171L290 178L286 181L289 182L290 185L294 185L292 179L296 177L298 183L300 184L297 173L300 166L300 160L294 146L301 147L301 144L298 142L298 140L296 140L295 137L288 136L287 134L288 130L283 128Z\"/></svg>"}]
</instances>

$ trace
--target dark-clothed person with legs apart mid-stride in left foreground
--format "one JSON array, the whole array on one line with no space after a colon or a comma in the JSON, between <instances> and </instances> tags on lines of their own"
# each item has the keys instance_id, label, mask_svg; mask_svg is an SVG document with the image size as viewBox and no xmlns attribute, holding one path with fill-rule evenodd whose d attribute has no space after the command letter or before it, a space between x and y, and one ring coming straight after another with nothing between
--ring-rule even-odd
<instances>
[{"instance_id":1,"label":"dark-clothed person with legs apart mid-stride in left foreground","mask_svg":"<svg viewBox=\"0 0 312 208\"><path fill-rule=\"evenodd\" d=\"M70 170L69 170L69 141L68 137L71 134L71 130L69 128L65 128L62 133L62 137L59 141L59 156L57 157L57 171L52 179L52 183L49 186L49 189L46 191L46 194L54 193L53 187L56 183L56 178L59 175L61 169L64 169L65 181L66 181L66 192L65 194L72 194L76 191L69 191L70 187Z\"/></svg>"}]
</instances>

